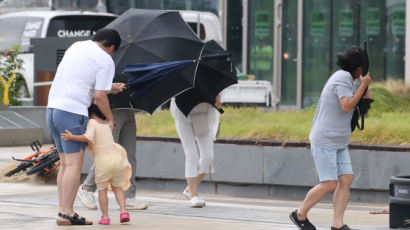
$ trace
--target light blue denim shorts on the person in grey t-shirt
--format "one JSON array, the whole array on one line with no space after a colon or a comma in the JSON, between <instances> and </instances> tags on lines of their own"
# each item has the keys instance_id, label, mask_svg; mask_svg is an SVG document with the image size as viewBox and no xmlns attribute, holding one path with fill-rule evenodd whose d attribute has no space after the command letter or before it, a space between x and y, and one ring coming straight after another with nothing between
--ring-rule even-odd
<instances>
[{"instance_id":1,"label":"light blue denim shorts on the person in grey t-shirt","mask_svg":"<svg viewBox=\"0 0 410 230\"><path fill-rule=\"evenodd\" d=\"M340 175L353 175L352 162L348 149L324 149L311 145L317 174L320 182L338 180Z\"/></svg>"}]
</instances>

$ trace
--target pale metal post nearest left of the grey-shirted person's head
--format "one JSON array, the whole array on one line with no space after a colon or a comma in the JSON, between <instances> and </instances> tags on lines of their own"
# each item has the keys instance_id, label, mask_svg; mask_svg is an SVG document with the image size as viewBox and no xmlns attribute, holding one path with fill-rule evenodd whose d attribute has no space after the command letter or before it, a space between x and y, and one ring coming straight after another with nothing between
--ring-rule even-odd
<instances>
[{"instance_id":1,"label":"pale metal post nearest left of the grey-shirted person's head","mask_svg":"<svg viewBox=\"0 0 410 230\"><path fill-rule=\"evenodd\" d=\"M296 106L302 108L302 67L303 67L303 0L298 0L298 51L296 70Z\"/></svg>"}]
</instances>

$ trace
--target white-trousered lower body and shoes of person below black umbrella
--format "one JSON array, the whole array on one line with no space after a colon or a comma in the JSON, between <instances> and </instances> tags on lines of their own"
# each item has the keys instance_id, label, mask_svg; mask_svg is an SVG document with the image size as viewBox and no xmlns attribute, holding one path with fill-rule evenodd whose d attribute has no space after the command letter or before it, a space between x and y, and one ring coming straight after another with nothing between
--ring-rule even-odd
<instances>
[{"instance_id":1,"label":"white-trousered lower body and shoes of person below black umbrella","mask_svg":"<svg viewBox=\"0 0 410 230\"><path fill-rule=\"evenodd\" d=\"M219 96L215 106L221 108ZM172 99L171 114L185 153L188 186L183 195L190 200L191 207L203 207L205 201L199 197L198 186L207 173L215 171L214 140L219 126L219 112L211 104L201 103L186 117Z\"/></svg>"}]
</instances>

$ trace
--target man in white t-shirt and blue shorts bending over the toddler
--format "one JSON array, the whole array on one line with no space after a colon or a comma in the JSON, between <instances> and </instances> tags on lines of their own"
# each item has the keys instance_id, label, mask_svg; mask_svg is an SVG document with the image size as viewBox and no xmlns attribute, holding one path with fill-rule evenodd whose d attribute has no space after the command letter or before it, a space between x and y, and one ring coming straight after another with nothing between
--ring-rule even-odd
<instances>
[{"instance_id":1,"label":"man in white t-shirt and blue shorts bending over the toddler","mask_svg":"<svg viewBox=\"0 0 410 230\"><path fill-rule=\"evenodd\" d=\"M111 29L99 30L92 41L74 43L67 49L51 85L47 105L47 126L59 152L61 163L57 177L60 202L58 225L92 224L91 221L79 217L73 210L86 143L64 141L61 134L65 130L77 135L85 132L88 107L93 98L107 118L111 129L114 128L114 117L107 93L121 92L125 86L123 83L112 83L115 73L112 56L120 44L118 32Z\"/></svg>"}]
</instances>

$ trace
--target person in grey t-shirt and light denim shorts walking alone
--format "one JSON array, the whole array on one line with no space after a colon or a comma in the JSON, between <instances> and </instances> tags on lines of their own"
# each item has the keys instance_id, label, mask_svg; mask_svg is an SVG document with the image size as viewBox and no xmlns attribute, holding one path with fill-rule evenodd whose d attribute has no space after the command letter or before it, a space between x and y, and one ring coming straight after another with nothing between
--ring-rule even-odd
<instances>
[{"instance_id":1,"label":"person in grey t-shirt and light denim shorts walking alone","mask_svg":"<svg viewBox=\"0 0 410 230\"><path fill-rule=\"evenodd\" d=\"M340 70L330 76L320 95L309 134L320 184L313 187L300 207L290 214L298 229L316 229L307 218L308 212L331 192L334 192L331 229L351 229L343 222L353 182L348 145L353 109L362 97L370 97L368 93L364 95L371 82L370 74L366 74L367 67L363 65L364 55L365 52L359 47L350 47L339 54L337 65ZM356 79L360 81L357 89L354 86Z\"/></svg>"}]
</instances>

